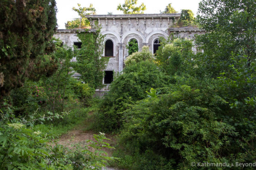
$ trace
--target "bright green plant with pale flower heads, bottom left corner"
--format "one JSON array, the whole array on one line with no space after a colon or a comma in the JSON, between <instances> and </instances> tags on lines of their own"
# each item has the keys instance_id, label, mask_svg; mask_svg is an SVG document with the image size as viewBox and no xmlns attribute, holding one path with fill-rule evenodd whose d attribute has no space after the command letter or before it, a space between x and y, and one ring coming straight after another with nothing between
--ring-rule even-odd
<instances>
[{"instance_id":1,"label":"bright green plant with pale flower heads, bottom left corner","mask_svg":"<svg viewBox=\"0 0 256 170\"><path fill-rule=\"evenodd\" d=\"M48 155L47 140L40 132L27 129L20 123L0 125L0 169L40 169Z\"/></svg>"}]
</instances>

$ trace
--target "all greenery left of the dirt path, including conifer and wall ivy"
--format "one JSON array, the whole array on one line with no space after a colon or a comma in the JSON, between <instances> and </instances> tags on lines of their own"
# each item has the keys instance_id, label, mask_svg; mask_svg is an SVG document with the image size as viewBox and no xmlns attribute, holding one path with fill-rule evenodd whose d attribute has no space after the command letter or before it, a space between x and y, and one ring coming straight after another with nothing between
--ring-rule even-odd
<instances>
[{"instance_id":1,"label":"all greenery left of the dirt path, including conifer and wall ivy","mask_svg":"<svg viewBox=\"0 0 256 170\"><path fill-rule=\"evenodd\" d=\"M101 170L114 160L102 150L112 148L105 134L71 149L53 139L84 123L91 112L107 62L100 59L103 36L99 30L79 34L83 45L75 51L52 38L54 0L3 1L0 12L5 23L0 27L0 169ZM70 62L73 57L76 63ZM72 77L73 68L80 81Z\"/></svg>"}]
</instances>

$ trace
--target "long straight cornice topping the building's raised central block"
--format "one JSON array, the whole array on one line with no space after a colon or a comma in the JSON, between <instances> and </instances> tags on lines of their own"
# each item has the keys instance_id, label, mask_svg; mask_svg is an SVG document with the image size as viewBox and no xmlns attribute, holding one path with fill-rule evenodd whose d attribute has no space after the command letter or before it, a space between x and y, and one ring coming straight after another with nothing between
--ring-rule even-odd
<instances>
[{"instance_id":1,"label":"long straight cornice topping the building's raised central block","mask_svg":"<svg viewBox=\"0 0 256 170\"><path fill-rule=\"evenodd\" d=\"M181 13L174 14L122 14L122 15L85 15L86 18L152 18L152 17L175 17L178 18Z\"/></svg>"}]
</instances>

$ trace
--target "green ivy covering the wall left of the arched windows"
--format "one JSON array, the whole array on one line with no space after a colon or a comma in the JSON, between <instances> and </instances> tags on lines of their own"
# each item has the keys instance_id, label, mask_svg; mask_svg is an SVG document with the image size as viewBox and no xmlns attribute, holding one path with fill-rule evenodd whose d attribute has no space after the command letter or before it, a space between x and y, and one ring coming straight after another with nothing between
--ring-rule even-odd
<instances>
[{"instance_id":1,"label":"green ivy covering the wall left of the arched windows","mask_svg":"<svg viewBox=\"0 0 256 170\"><path fill-rule=\"evenodd\" d=\"M77 62L73 63L73 68L80 73L83 82L88 83L92 88L102 88L104 69L107 67L107 57L102 57L104 36L100 34L100 29L96 32L78 33L82 46L75 50Z\"/></svg>"}]
</instances>

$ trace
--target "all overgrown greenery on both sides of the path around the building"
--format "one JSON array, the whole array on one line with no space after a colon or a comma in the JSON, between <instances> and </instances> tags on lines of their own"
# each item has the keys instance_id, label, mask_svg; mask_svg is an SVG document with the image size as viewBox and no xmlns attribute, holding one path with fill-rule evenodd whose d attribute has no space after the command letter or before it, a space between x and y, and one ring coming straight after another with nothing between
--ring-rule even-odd
<instances>
[{"instance_id":1,"label":"all overgrown greenery on both sides of the path around the building","mask_svg":"<svg viewBox=\"0 0 256 170\"><path fill-rule=\"evenodd\" d=\"M208 33L196 37L197 54L192 40L170 36L160 39L155 57L147 46L127 57L123 73L97 101L92 122L98 131L117 134L118 162L102 151L111 148L103 133L85 147L50 144L91 112L88 106L95 88L101 88L107 62L101 58L104 37L99 30L79 33L80 50L61 46L50 36L56 26L54 0L23 2L3 1L0 6L2 21L12 17L0 26L0 169L101 170L107 161L129 170L209 168L197 167L197 162L240 169L237 162L255 162L254 0L202 0L197 22ZM14 9L27 12L22 23L31 29L11 28L21 28ZM50 27L33 31L44 24ZM38 40L34 46L32 33ZM76 63L69 62L73 57ZM71 68L85 83L71 77Z\"/></svg>"}]
</instances>

